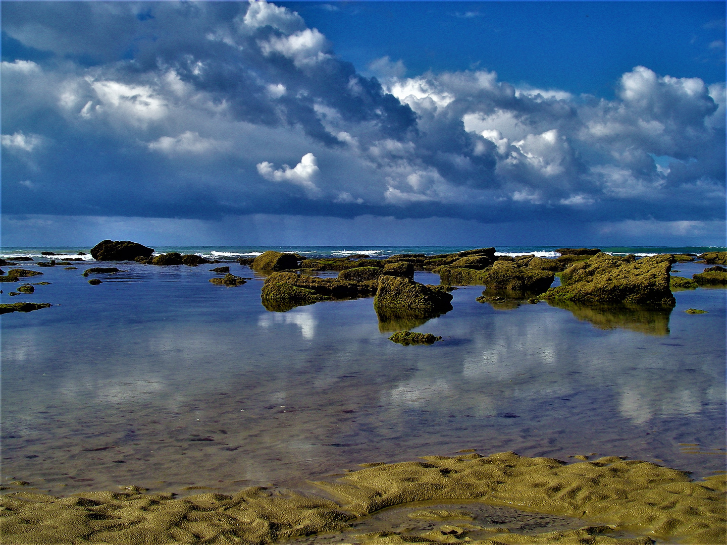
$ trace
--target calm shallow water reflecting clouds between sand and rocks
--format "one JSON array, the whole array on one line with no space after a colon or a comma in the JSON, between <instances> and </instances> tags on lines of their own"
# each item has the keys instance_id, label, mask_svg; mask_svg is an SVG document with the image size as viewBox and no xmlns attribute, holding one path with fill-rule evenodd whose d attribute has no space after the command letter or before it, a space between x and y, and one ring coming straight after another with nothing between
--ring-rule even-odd
<instances>
[{"instance_id":1,"label":"calm shallow water reflecting clouds between sand and rocks","mask_svg":"<svg viewBox=\"0 0 727 545\"><path fill-rule=\"evenodd\" d=\"M470 286L417 328L442 342L403 347L371 299L268 312L262 277L225 288L208 282L214 265L132 263L89 286L83 265L39 269L28 280L49 286L2 296L54 304L0 318L5 483L305 489L356 464L467 448L725 469L723 289L677 291L671 313L614 313L481 304Z\"/></svg>"}]
</instances>

